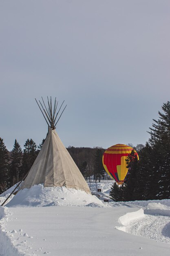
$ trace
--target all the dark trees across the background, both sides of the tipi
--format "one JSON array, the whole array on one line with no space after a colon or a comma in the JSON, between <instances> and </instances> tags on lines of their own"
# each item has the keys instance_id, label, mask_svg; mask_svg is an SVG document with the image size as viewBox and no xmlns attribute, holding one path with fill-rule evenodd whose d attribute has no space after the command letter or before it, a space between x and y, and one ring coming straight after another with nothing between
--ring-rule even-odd
<instances>
[{"instance_id":1,"label":"all the dark trees across the background, both sides of the tipi","mask_svg":"<svg viewBox=\"0 0 170 256\"><path fill-rule=\"evenodd\" d=\"M159 118L153 119L146 145L132 146L135 152L128 156L128 174L123 185L113 184L110 197L115 201L152 200L170 198L170 101L163 103ZM134 127L135 130L135 127ZM27 139L24 150L15 139L9 152L0 138L0 193L22 180L29 171L42 145L37 146L32 139ZM112 143L110 143L111 146ZM86 181L104 179L102 155L104 148L75 148L69 146L68 152L77 164ZM93 180L91 180L93 177Z\"/></svg>"}]
</instances>

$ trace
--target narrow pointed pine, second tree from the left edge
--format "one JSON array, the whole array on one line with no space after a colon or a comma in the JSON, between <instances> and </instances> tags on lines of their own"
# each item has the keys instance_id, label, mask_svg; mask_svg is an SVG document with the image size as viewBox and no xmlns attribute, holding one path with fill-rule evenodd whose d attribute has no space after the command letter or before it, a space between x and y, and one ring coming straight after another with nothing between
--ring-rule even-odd
<instances>
[{"instance_id":1,"label":"narrow pointed pine, second tree from the left edge","mask_svg":"<svg viewBox=\"0 0 170 256\"><path fill-rule=\"evenodd\" d=\"M10 185L13 186L20 180L20 173L22 171L22 148L15 139L14 146L11 152L11 164L10 164Z\"/></svg>"}]
</instances>

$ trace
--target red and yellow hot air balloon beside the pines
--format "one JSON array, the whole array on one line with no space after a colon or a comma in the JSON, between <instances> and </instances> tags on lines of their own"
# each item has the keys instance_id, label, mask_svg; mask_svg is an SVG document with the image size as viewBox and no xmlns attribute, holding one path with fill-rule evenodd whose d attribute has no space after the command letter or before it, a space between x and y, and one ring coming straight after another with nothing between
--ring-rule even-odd
<instances>
[{"instance_id":1,"label":"red and yellow hot air balloon beside the pines","mask_svg":"<svg viewBox=\"0 0 170 256\"><path fill-rule=\"evenodd\" d=\"M126 159L132 150L133 148L130 146L124 144L116 144L106 149L103 154L103 166L108 175L110 175L110 177L114 179L118 185L124 182L128 172L128 168L126 167ZM137 157L139 159L138 154Z\"/></svg>"}]
</instances>

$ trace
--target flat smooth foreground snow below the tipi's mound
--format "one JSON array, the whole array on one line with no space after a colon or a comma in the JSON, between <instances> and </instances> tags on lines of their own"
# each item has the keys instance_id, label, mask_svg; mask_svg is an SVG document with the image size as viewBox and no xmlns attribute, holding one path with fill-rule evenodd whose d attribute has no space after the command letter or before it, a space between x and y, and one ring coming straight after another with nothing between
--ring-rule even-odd
<instances>
[{"instance_id":1,"label":"flat smooth foreground snow below the tipi's mound","mask_svg":"<svg viewBox=\"0 0 170 256\"><path fill-rule=\"evenodd\" d=\"M1 256L169 256L170 244L118 229L118 219L139 208L4 208ZM3 239L2 239L3 238Z\"/></svg>"}]
</instances>

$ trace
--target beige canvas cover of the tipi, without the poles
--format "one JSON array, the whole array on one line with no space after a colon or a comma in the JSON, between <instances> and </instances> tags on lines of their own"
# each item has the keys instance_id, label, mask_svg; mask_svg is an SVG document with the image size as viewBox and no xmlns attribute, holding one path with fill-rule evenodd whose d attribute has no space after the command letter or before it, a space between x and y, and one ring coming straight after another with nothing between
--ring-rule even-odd
<instances>
[{"instance_id":1,"label":"beige canvas cover of the tipi, without the poles","mask_svg":"<svg viewBox=\"0 0 170 256\"><path fill-rule=\"evenodd\" d=\"M57 135L49 127L46 140L35 159L21 189L35 184L44 186L66 186L91 193L82 173Z\"/></svg>"}]
</instances>

